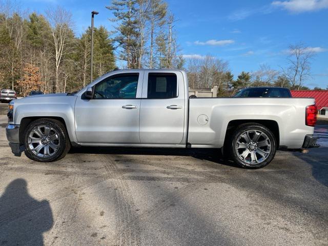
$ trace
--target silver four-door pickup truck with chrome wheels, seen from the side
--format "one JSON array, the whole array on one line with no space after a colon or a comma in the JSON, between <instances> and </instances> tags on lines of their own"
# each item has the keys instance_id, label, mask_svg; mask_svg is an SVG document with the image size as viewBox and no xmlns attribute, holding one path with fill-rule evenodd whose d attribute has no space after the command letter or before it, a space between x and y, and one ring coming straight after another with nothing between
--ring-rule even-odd
<instances>
[{"instance_id":1,"label":"silver four-door pickup truck with chrome wheels, seen from the side","mask_svg":"<svg viewBox=\"0 0 328 246\"><path fill-rule=\"evenodd\" d=\"M13 100L6 132L12 152L35 161L71 146L221 148L260 168L279 147L318 147L316 114L313 98L189 98L181 70L116 70L75 94Z\"/></svg>"}]
</instances>

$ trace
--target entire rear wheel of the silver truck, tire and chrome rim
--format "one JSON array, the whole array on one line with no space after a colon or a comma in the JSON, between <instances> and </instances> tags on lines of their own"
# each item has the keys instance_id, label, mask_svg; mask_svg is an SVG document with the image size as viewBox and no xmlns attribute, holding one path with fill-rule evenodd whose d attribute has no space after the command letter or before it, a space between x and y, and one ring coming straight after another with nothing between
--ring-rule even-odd
<instances>
[{"instance_id":1,"label":"entire rear wheel of the silver truck, tire and chrome rim","mask_svg":"<svg viewBox=\"0 0 328 246\"><path fill-rule=\"evenodd\" d=\"M258 141L247 141L247 138L252 140L257 137ZM269 128L256 123L242 124L235 129L230 139L230 154L233 161L242 168L262 168L273 160L277 149L276 142Z\"/></svg>"}]
</instances>

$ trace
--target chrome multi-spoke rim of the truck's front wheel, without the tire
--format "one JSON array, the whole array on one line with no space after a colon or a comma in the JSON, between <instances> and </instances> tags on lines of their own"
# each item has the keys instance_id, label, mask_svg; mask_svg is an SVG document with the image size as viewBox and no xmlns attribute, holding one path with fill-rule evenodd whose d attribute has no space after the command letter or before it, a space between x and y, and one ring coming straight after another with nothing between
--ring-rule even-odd
<instances>
[{"instance_id":1,"label":"chrome multi-spoke rim of the truck's front wheel, without the tire","mask_svg":"<svg viewBox=\"0 0 328 246\"><path fill-rule=\"evenodd\" d=\"M34 127L28 136L28 148L38 157L54 155L60 145L59 133L53 127L40 125Z\"/></svg>"}]
</instances>

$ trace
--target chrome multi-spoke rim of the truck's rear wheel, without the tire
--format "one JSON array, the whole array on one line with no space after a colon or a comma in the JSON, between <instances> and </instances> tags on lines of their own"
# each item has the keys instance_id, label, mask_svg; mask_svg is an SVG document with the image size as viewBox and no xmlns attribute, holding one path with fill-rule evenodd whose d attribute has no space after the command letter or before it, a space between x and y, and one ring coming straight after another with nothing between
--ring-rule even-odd
<instances>
[{"instance_id":1,"label":"chrome multi-spoke rim of the truck's rear wheel, without the tire","mask_svg":"<svg viewBox=\"0 0 328 246\"><path fill-rule=\"evenodd\" d=\"M259 130L248 130L238 136L235 150L243 162L256 165L269 157L271 144L267 134Z\"/></svg>"}]
</instances>

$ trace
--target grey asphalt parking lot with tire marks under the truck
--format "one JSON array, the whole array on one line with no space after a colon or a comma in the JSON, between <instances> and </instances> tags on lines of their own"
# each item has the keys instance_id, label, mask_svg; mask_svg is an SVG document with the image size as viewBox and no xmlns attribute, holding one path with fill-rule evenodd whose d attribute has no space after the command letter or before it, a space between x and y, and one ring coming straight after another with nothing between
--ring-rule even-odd
<instances>
[{"instance_id":1,"label":"grey asphalt parking lot with tire marks under the truck","mask_svg":"<svg viewBox=\"0 0 328 246\"><path fill-rule=\"evenodd\" d=\"M11 153L2 112L0 245L328 245L328 146L258 170L216 150L78 148L39 163Z\"/></svg>"}]
</instances>

